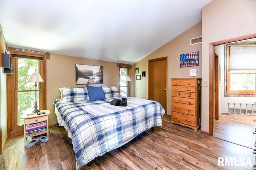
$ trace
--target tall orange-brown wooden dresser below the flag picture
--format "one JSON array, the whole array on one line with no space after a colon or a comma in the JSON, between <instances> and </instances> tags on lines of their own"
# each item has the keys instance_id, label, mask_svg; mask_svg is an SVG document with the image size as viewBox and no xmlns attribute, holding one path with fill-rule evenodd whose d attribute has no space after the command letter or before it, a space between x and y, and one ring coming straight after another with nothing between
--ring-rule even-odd
<instances>
[{"instance_id":1,"label":"tall orange-brown wooden dresser below the flag picture","mask_svg":"<svg viewBox=\"0 0 256 170\"><path fill-rule=\"evenodd\" d=\"M200 111L201 79L172 79L171 123L198 130Z\"/></svg>"}]
</instances>

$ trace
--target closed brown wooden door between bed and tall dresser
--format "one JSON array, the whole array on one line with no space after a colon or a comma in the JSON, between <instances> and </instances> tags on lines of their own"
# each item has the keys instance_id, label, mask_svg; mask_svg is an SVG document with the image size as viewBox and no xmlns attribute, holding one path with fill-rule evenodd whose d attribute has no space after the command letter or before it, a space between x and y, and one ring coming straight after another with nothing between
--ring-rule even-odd
<instances>
[{"instance_id":1,"label":"closed brown wooden door between bed and tall dresser","mask_svg":"<svg viewBox=\"0 0 256 170\"><path fill-rule=\"evenodd\" d=\"M167 57L148 60L148 99L158 101L167 114Z\"/></svg>"}]
</instances>

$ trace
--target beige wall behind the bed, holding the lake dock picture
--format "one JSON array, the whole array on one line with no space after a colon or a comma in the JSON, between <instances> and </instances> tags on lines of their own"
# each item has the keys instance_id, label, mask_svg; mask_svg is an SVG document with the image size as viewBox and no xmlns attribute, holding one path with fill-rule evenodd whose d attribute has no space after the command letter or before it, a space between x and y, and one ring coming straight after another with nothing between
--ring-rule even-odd
<instances>
[{"instance_id":1,"label":"beige wall behind the bed, holding the lake dock picture","mask_svg":"<svg viewBox=\"0 0 256 170\"><path fill-rule=\"evenodd\" d=\"M53 101L60 98L60 87L76 87L85 85L76 85L76 64L98 65L104 69L104 83L95 84L95 86L116 86L118 87L118 67L116 63L85 59L80 57L70 57L66 55L50 54L50 59L46 61L46 76L47 76L47 106L50 110L49 125L57 123L57 118L54 112ZM132 71L133 75L134 72ZM131 77L133 81L133 77ZM133 82L131 82L133 87ZM133 94L133 91L131 91Z\"/></svg>"}]
</instances>

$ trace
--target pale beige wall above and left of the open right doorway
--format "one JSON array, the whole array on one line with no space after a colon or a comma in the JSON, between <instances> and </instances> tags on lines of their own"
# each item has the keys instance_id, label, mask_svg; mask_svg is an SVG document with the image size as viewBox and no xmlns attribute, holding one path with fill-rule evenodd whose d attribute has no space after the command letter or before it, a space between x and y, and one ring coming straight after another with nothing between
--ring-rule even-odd
<instances>
[{"instance_id":1,"label":"pale beige wall above and left of the open right doorway","mask_svg":"<svg viewBox=\"0 0 256 170\"><path fill-rule=\"evenodd\" d=\"M256 0L214 0L202 8L202 81L209 81L209 43L256 33ZM202 87L202 130L209 132L209 87Z\"/></svg>"}]
</instances>

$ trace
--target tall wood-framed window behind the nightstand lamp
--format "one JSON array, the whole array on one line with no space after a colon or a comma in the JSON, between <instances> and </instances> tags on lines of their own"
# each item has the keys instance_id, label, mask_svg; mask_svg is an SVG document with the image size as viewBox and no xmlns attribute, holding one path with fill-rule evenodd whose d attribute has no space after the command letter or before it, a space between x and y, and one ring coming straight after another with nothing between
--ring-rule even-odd
<instances>
[{"instance_id":1,"label":"tall wood-framed window behind the nightstand lamp","mask_svg":"<svg viewBox=\"0 0 256 170\"><path fill-rule=\"evenodd\" d=\"M46 54L16 51L12 55L13 75L7 75L8 135L23 134L23 113L34 110L35 82L28 82L35 69L46 80ZM31 56L30 56L31 55ZM36 101L38 109L46 109L46 81L37 82Z\"/></svg>"}]
</instances>

